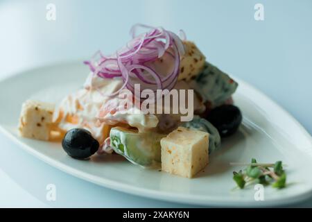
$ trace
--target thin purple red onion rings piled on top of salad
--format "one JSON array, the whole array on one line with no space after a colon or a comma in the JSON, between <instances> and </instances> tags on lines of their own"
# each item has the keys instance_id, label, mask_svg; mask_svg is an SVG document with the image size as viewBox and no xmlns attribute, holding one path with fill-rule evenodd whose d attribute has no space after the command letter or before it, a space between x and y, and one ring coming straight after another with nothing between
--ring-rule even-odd
<instances>
[{"instance_id":1,"label":"thin purple red onion rings piled on top of salad","mask_svg":"<svg viewBox=\"0 0 312 222\"><path fill-rule=\"evenodd\" d=\"M149 31L137 35L137 28L148 28ZM146 83L146 87L153 85L156 89L172 89L180 71L180 56L184 54L184 45L180 37L162 27L154 28L144 24L132 26L130 35L132 40L116 54L105 57L98 51L92 60L84 62L85 65L101 78L122 78L121 89L127 87L134 92L134 85L140 81ZM185 33L181 35L185 39ZM173 70L165 75L157 74L148 62L153 63L165 54L172 57ZM96 56L100 58L96 60ZM112 95L118 94L121 89Z\"/></svg>"}]
</instances>

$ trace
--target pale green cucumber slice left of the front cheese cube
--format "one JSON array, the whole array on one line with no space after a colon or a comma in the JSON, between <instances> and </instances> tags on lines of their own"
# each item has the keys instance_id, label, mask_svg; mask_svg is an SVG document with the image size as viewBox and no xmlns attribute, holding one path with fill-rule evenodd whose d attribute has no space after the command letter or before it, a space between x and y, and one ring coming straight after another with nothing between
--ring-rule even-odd
<instances>
[{"instance_id":1,"label":"pale green cucumber slice left of the front cheese cube","mask_svg":"<svg viewBox=\"0 0 312 222\"><path fill-rule=\"evenodd\" d=\"M160 139L165 137L155 132L138 133L115 127L110 130L110 144L116 153L143 167L153 167L160 163Z\"/></svg>"}]
</instances>

